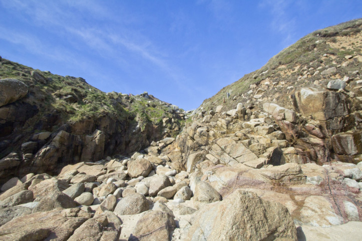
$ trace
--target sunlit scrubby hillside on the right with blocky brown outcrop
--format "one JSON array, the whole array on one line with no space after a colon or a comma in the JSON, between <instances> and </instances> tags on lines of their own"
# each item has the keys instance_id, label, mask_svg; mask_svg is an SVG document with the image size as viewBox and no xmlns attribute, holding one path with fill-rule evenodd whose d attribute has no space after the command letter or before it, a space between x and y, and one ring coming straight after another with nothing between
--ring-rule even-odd
<instances>
[{"instance_id":1,"label":"sunlit scrubby hillside on the right with blocky brown outcrop","mask_svg":"<svg viewBox=\"0 0 362 241\"><path fill-rule=\"evenodd\" d=\"M241 103L246 120L273 115L303 163L356 164L362 160L361 52L362 19L317 30L205 100L199 110L206 115L218 105L224 112ZM278 106L296 114L284 114Z\"/></svg>"}]
</instances>

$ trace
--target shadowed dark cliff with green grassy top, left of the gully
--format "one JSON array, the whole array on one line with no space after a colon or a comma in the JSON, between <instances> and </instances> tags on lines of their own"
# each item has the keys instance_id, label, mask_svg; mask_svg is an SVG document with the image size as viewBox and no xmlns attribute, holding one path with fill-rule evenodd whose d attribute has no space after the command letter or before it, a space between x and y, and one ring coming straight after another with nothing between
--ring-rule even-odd
<instances>
[{"instance_id":1,"label":"shadowed dark cliff with green grassy top, left of the gully","mask_svg":"<svg viewBox=\"0 0 362 241\"><path fill-rule=\"evenodd\" d=\"M127 155L184 123L183 110L147 92L104 93L82 78L0 60L0 181Z\"/></svg>"}]
</instances>

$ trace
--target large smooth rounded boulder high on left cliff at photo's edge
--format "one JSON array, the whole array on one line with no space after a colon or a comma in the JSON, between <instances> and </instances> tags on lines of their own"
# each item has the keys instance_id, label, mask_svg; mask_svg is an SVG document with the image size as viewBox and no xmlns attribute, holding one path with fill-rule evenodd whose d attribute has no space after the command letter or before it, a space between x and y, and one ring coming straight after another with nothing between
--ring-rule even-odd
<instances>
[{"instance_id":1,"label":"large smooth rounded boulder high on left cliff at photo's edge","mask_svg":"<svg viewBox=\"0 0 362 241\"><path fill-rule=\"evenodd\" d=\"M17 79L0 79L0 107L27 94L27 85Z\"/></svg>"}]
</instances>

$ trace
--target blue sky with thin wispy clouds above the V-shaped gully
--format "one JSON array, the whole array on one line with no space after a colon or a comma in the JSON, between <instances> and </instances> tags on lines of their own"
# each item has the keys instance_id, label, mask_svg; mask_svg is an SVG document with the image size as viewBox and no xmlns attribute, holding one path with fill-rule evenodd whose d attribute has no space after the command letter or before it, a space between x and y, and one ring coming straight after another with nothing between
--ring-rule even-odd
<instances>
[{"instance_id":1,"label":"blue sky with thin wispy clouds above the V-shaped gully","mask_svg":"<svg viewBox=\"0 0 362 241\"><path fill-rule=\"evenodd\" d=\"M0 0L3 58L185 110L361 0Z\"/></svg>"}]
</instances>

